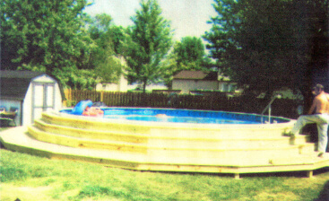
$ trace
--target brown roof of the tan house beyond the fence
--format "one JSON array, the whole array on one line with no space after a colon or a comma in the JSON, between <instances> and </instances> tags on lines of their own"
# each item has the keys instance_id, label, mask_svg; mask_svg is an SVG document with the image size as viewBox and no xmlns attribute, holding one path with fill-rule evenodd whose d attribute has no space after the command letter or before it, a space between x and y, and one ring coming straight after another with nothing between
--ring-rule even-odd
<instances>
[{"instance_id":1,"label":"brown roof of the tan house beyond the fence","mask_svg":"<svg viewBox=\"0 0 329 201\"><path fill-rule=\"evenodd\" d=\"M181 71L174 75L175 80L218 80L217 72Z\"/></svg>"}]
</instances>

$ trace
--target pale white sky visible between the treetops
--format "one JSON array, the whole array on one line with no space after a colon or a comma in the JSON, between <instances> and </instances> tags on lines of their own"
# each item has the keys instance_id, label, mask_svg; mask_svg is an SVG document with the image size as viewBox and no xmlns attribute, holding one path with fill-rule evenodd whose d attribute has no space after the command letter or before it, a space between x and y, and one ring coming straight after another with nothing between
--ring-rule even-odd
<instances>
[{"instance_id":1,"label":"pale white sky visible between the treetops","mask_svg":"<svg viewBox=\"0 0 329 201\"><path fill-rule=\"evenodd\" d=\"M137 10L140 10L140 0L94 0L94 4L85 9L86 13L95 16L107 13L117 26L133 25L130 20ZM214 0L158 0L162 9L162 17L171 22L174 39L180 40L186 36L201 37L205 31L210 31L211 24L206 22L216 16L212 4Z\"/></svg>"}]
</instances>

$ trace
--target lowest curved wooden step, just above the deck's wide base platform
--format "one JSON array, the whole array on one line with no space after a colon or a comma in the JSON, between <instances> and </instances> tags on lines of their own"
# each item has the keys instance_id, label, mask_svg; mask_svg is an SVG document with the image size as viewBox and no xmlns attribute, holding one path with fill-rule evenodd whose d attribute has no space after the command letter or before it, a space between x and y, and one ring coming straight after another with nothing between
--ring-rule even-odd
<instances>
[{"instance_id":1,"label":"lowest curved wooden step, just above the deck's wide base platform","mask_svg":"<svg viewBox=\"0 0 329 201\"><path fill-rule=\"evenodd\" d=\"M155 144L152 140L143 144L134 144L127 142L117 142L109 140L100 140L100 139L87 139L81 137L74 137L68 135L59 135L51 134L40 130L38 127L28 127L29 135L33 138L47 142L51 144L61 144L71 147L80 147L80 148L92 148L92 149L107 149L107 150L116 150L120 152L132 152L132 153L144 153L151 157L193 157L193 158L253 158L258 160L259 158L273 157L278 154L299 154L301 152L308 152L314 150L314 144L295 144L290 145L288 139L283 138L286 141L285 144L280 146L264 146L261 141L258 146L248 146L244 147L232 146L232 147L221 147L222 144L225 144L225 141L218 142L218 144L213 144L213 142L201 141L198 144L190 144L182 142L181 144L161 144L160 141L158 144ZM239 142L241 143L241 142ZM243 141L242 141L243 143ZM248 144L248 143L246 143Z\"/></svg>"}]
</instances>

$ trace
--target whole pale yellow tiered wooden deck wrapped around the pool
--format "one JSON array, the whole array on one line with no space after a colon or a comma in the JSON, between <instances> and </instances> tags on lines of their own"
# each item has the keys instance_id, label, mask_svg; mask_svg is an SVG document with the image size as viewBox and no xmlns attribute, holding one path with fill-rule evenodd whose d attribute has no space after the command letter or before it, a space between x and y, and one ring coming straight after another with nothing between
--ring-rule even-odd
<instances>
[{"instance_id":1,"label":"whole pale yellow tiered wooden deck wrapped around the pool","mask_svg":"<svg viewBox=\"0 0 329 201\"><path fill-rule=\"evenodd\" d=\"M292 125L168 127L44 113L31 127L0 133L5 148L51 159L95 162L129 170L240 174L329 167L307 135L283 136ZM233 128L233 129L232 129Z\"/></svg>"}]
</instances>

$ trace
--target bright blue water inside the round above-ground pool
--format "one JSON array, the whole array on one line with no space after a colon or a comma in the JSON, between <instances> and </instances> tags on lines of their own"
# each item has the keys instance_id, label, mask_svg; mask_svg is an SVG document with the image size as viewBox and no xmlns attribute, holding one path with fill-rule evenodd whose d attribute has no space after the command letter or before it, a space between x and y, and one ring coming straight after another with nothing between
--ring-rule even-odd
<instances>
[{"instance_id":1,"label":"bright blue water inside the round above-ground pool","mask_svg":"<svg viewBox=\"0 0 329 201\"><path fill-rule=\"evenodd\" d=\"M200 124L260 124L261 116L246 113L234 113L209 110L191 109L143 109L143 108L102 108L104 118L174 122L174 123L200 123ZM62 112L71 113L72 109ZM264 117L264 119L266 119ZM271 118L271 123L284 123L287 118Z\"/></svg>"}]
</instances>

